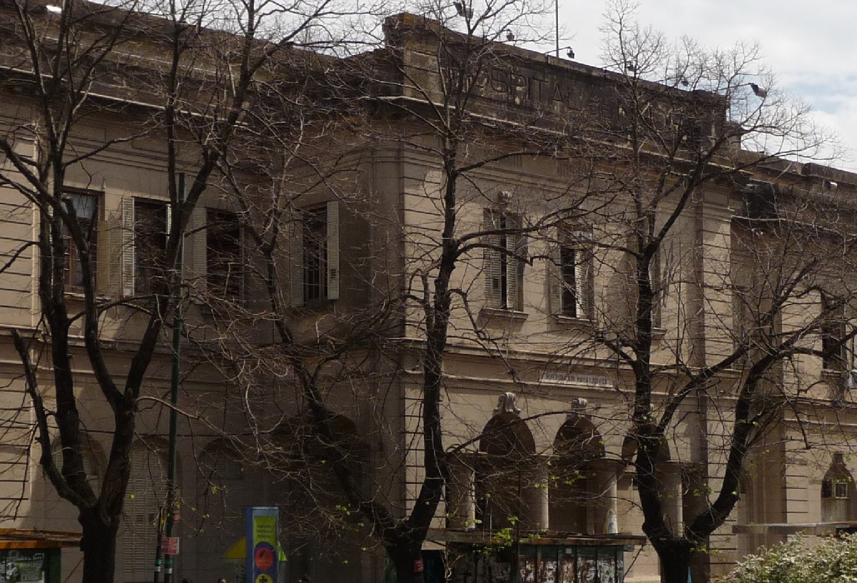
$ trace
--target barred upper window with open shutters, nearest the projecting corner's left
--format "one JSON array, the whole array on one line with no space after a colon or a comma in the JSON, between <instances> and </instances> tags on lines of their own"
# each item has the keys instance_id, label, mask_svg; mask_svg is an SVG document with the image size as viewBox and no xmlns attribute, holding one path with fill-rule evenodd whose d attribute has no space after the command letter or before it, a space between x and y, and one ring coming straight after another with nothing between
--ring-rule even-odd
<instances>
[{"instance_id":1,"label":"barred upper window with open shutters, nearest the projecting corner's left","mask_svg":"<svg viewBox=\"0 0 857 583\"><path fill-rule=\"evenodd\" d=\"M292 303L339 299L339 201L300 211L291 246Z\"/></svg>"}]
</instances>

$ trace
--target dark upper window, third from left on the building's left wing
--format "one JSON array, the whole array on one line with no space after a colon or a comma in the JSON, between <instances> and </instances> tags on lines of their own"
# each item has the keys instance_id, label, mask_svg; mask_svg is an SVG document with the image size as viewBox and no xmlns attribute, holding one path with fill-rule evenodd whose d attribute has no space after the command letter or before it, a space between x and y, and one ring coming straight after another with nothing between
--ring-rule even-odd
<instances>
[{"instance_id":1,"label":"dark upper window, third from left on the building's left wing","mask_svg":"<svg viewBox=\"0 0 857 583\"><path fill-rule=\"evenodd\" d=\"M206 213L206 285L219 298L240 298L243 290L241 227L236 213Z\"/></svg>"}]
</instances>

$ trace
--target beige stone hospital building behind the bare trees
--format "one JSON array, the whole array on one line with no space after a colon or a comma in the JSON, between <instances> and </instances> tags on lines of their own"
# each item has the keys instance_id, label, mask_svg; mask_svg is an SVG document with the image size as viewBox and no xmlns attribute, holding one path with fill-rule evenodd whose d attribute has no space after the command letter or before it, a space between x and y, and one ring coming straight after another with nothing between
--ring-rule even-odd
<instances>
[{"instance_id":1,"label":"beige stone hospital building behind the bare trees","mask_svg":"<svg viewBox=\"0 0 857 583\"><path fill-rule=\"evenodd\" d=\"M458 132L455 235L462 252L452 273L456 299L440 413L450 478L423 545L427 580L443 580L444 562L453 581L506 581L515 573L528 583L658 579L658 559L642 530L644 477L633 463L641 373L633 368L636 357L623 357L642 350L641 285L652 299L644 325L654 376L650 414L671 415L652 462L661 514L673 532L722 490L736 406L747 379L755 383L746 399L749 420L741 423L758 424L758 433L739 488L727 492L738 502L705 537L709 552L695 556L694 580L722 573L760 544L794 532L835 532L857 519L857 467L848 456L855 421L849 391L857 382L849 372L855 282L848 199L857 176L742 150L725 93L667 87L641 81L630 69L611 73L473 39L413 15L391 17L385 32L383 48L330 60L332 69L363 80L355 93L370 106L355 105L361 119L338 135L311 136L322 152L315 161L341 171L311 186L305 174L293 179L301 195L290 199L289 241L277 259L284 275L279 293L296 338L304 346L315 342L320 352L326 337L333 342L373 311L396 304L383 358L353 369L363 376L322 372L333 378L327 406L337 415L330 424L347 443L363 491L387 501L394 515L406 514L425 478L426 319L419 300L437 273L443 242L442 201L451 176L441 155L448 153L444 132ZM452 57L463 47L482 52L455 69ZM11 69L7 62L0 85L4 135L36 117L26 91L9 81ZM463 90L467 102L455 101L450 87ZM734 83L726 90L741 88ZM632 110L624 99L635 96L644 103L634 101ZM454 128L434 123L457 111L466 119ZM75 128L75 143L98 147L123 138L127 124L121 111L99 111ZM640 135L650 141L640 143ZM34 149L26 132L15 134L14 144L21 152ZM65 190L77 216L93 226L88 237L97 248L95 281L105 304L147 293L157 277L145 252L166 244L167 162L163 144L149 135L118 139L69 166ZM3 164L7 176L17 176L7 159ZM247 173L254 184L247 200L261 200L271 177ZM683 191L684 183L692 188ZM13 184L0 188L4 526L74 532L73 508L57 499L39 469L9 334L42 329L39 266L27 246L39 213ZM259 318L245 327L248 344L275 344L269 314L260 316L264 290L254 280L259 263L247 237L270 209L254 203L242 212L228 192L228 185L208 189L189 218L186 318L201 346L189 359L200 358L222 330L208 311L213 295L241 295L241 313ZM649 205L646 212L634 207L640 202ZM75 295L81 276L75 256L69 251L64 274L70 306L85 299ZM100 340L113 370L127 370L129 346L145 326L141 314L105 308ZM78 350L80 334L71 335ZM98 487L111 412L80 355L73 370L82 379L85 461ZM767 355L776 358L756 368ZM165 496L167 416L158 403L169 387L170 357L165 342L139 406L117 553L117 580L129 583L151 580ZM683 394L700 370L709 371L705 382ZM39 369L42 382L51 383L50 372ZM278 504L288 557L283 580L303 573L316 580L384 577L383 554L363 543L371 538L363 537L362 523L344 520L353 540L333 544L324 540L324 525L304 526L347 507L336 497L323 453L302 450L318 462L306 474L290 476L268 463L276 459L266 457L268 450L278 448L280 459L289 460L302 435L305 407L290 393L294 376L284 365L281 379L267 379L272 387L260 389L254 409L236 394L237 375L227 380L201 358L185 371L179 576L234 578L243 556L243 508ZM268 418L249 415L260 411ZM258 433L251 422L258 422ZM253 441L248 434L260 451L242 450ZM295 484L296 476L307 482ZM309 498L308 484L318 487ZM313 514L315 505L325 510L326 496L329 512ZM79 554L63 553L64 576L75 571Z\"/></svg>"}]
</instances>

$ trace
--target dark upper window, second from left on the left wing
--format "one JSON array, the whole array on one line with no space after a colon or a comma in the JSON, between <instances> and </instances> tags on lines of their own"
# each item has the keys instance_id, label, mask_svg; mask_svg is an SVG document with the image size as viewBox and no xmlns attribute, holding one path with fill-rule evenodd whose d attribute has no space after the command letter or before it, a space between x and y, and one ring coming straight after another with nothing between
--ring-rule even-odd
<instances>
[{"instance_id":1,"label":"dark upper window, second from left on the left wing","mask_svg":"<svg viewBox=\"0 0 857 583\"><path fill-rule=\"evenodd\" d=\"M165 285L164 254L170 228L165 201L134 200L134 293L145 295Z\"/></svg>"}]
</instances>

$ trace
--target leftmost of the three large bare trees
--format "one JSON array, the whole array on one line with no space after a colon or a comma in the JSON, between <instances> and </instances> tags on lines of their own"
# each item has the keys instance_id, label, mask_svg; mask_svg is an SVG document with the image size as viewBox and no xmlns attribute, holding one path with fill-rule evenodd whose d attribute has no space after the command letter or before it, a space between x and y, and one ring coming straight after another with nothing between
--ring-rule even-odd
<instances>
[{"instance_id":1,"label":"leftmost of the three large bare trees","mask_svg":"<svg viewBox=\"0 0 857 583\"><path fill-rule=\"evenodd\" d=\"M185 295L177 266L189 219L230 152L257 78L304 41L335 45L315 27L332 33L326 19L345 13L325 1L22 0L2 9L9 26L0 83L15 105L0 136L0 186L36 217L33 238L23 237L3 265L9 272L33 257L37 266L39 320L14 331L15 348L40 465L79 513L83 579L112 581L144 380L163 358L165 327ZM105 167L141 144L161 169L165 196L137 203L127 195L121 208L102 211L102 181L119 175ZM123 228L99 232L109 224L99 217L114 213ZM127 350L114 350L116 342ZM82 370L72 368L75 356ZM87 383L99 400L81 398ZM111 418L102 476L85 465L96 410Z\"/></svg>"}]
</instances>

